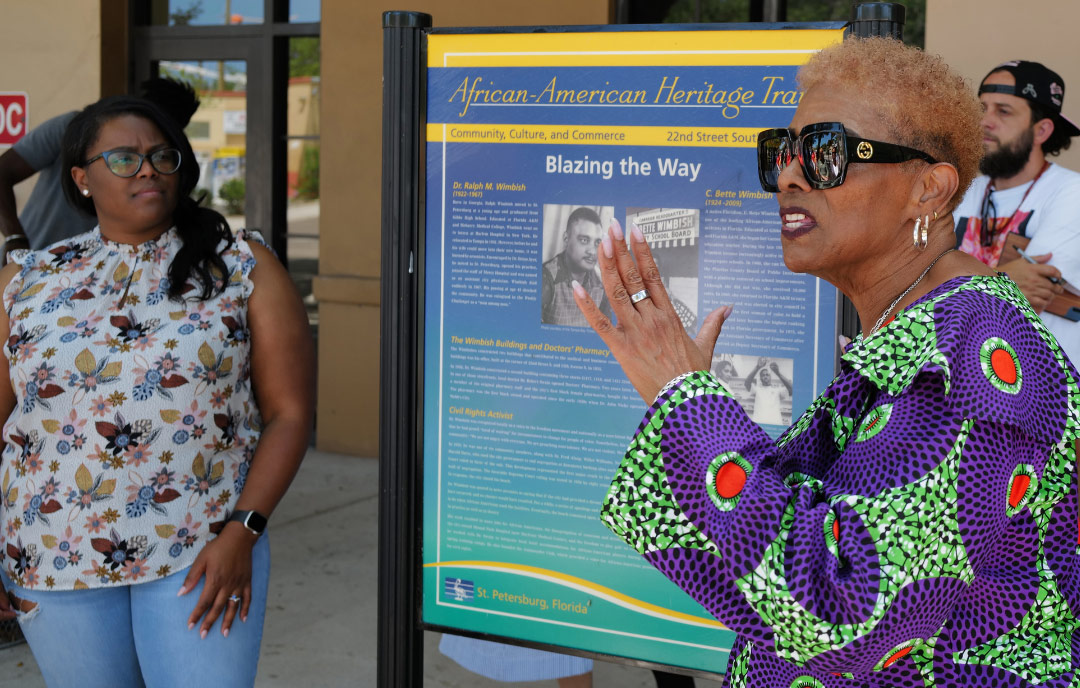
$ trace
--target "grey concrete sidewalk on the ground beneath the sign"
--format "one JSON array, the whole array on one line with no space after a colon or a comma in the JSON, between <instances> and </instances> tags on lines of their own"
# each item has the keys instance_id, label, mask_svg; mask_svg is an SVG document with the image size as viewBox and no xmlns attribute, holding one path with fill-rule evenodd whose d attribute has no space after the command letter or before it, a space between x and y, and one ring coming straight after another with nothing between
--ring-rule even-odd
<instances>
[{"instance_id":1,"label":"grey concrete sidewalk on the ground beneath the sign","mask_svg":"<svg viewBox=\"0 0 1080 688\"><path fill-rule=\"evenodd\" d=\"M376 684L378 464L314 449L270 523L271 576L260 688ZM438 653L426 633L424 686L494 688ZM44 688L24 644L0 650L0 688ZM555 682L517 683L554 688ZM643 669L597 662L596 688L651 688ZM716 686L698 679L698 686Z\"/></svg>"}]
</instances>

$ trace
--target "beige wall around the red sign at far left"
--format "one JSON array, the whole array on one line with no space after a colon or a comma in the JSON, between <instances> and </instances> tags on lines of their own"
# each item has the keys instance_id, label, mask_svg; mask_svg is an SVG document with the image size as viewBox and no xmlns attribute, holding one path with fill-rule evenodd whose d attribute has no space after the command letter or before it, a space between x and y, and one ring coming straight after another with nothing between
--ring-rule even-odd
<instances>
[{"instance_id":1,"label":"beige wall around the red sign at far left","mask_svg":"<svg viewBox=\"0 0 1080 688\"><path fill-rule=\"evenodd\" d=\"M100 2L0 0L0 91L27 93L29 129L100 97ZM15 187L19 207L36 178Z\"/></svg>"}]
</instances>

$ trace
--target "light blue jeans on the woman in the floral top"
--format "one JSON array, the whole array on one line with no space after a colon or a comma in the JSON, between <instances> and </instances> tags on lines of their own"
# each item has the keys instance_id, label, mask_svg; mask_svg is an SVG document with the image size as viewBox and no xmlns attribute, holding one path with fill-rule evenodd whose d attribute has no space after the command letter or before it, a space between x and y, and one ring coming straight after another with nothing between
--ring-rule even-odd
<instances>
[{"instance_id":1,"label":"light blue jeans on the woman in the floral top","mask_svg":"<svg viewBox=\"0 0 1080 688\"><path fill-rule=\"evenodd\" d=\"M176 592L187 570L137 585L94 590L26 590L4 575L3 584L38 608L19 616L33 659L50 688L233 688L253 686L262 639L270 544L266 535L252 550L252 605L229 637L221 617L199 637L188 616L203 580L183 597Z\"/></svg>"}]
</instances>

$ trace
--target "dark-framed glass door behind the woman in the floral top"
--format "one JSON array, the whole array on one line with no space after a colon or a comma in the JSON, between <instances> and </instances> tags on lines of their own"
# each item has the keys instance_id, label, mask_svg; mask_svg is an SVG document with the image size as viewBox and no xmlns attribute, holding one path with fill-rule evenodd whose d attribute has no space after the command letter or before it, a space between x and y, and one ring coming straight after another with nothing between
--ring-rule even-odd
<instances>
[{"instance_id":1,"label":"dark-framed glass door behind the woman in the floral top","mask_svg":"<svg viewBox=\"0 0 1080 688\"><path fill-rule=\"evenodd\" d=\"M200 198L233 229L257 229L288 268L318 334L319 0L132 3L131 90L191 84L187 127Z\"/></svg>"}]
</instances>

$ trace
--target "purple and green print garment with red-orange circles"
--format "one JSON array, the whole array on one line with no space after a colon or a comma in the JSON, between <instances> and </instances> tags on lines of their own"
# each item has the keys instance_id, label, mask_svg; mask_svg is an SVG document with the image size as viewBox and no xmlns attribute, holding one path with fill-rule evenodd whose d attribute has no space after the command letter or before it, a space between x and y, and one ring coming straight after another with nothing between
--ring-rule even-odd
<instances>
[{"instance_id":1,"label":"purple and green print garment with red-orange circles","mask_svg":"<svg viewBox=\"0 0 1080 688\"><path fill-rule=\"evenodd\" d=\"M779 441L707 373L603 518L739 635L752 688L1080 686L1077 372L1004 276L868 339Z\"/></svg>"}]
</instances>

